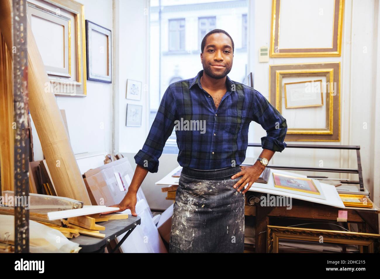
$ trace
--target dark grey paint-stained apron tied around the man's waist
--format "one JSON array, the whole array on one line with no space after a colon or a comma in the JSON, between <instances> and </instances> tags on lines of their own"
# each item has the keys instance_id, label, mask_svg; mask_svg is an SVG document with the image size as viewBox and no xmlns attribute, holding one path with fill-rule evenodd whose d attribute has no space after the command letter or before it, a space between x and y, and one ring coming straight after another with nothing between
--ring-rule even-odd
<instances>
[{"instance_id":1,"label":"dark grey paint-stained apron tied around the man's waist","mask_svg":"<svg viewBox=\"0 0 380 279\"><path fill-rule=\"evenodd\" d=\"M219 170L182 168L169 252L244 251L244 194L233 185L240 166Z\"/></svg>"}]
</instances>

